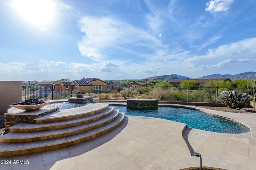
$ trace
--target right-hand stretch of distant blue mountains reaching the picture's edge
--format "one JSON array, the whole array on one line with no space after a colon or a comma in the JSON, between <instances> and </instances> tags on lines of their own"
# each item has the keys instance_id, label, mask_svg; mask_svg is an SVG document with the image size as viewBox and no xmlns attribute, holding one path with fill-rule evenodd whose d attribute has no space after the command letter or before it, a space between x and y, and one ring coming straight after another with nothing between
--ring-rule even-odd
<instances>
[{"instance_id":1,"label":"right-hand stretch of distant blue mountains reaching the picture's edge","mask_svg":"<svg viewBox=\"0 0 256 170\"><path fill-rule=\"evenodd\" d=\"M255 80L256 72L244 72L240 74L211 74L208 76L202 76L199 78L229 78L230 80L236 80L238 78L245 78L248 80Z\"/></svg>"}]
</instances>

